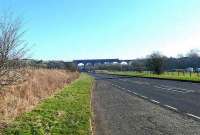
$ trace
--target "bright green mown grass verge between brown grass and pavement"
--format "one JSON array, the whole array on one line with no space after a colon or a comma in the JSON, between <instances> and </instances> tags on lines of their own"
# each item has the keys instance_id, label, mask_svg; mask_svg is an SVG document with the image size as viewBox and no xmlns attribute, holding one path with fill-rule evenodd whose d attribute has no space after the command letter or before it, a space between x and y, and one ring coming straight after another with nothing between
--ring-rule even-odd
<instances>
[{"instance_id":1,"label":"bright green mown grass verge between brown grass and pavement","mask_svg":"<svg viewBox=\"0 0 200 135\"><path fill-rule=\"evenodd\" d=\"M23 114L5 135L89 135L93 79L86 74Z\"/></svg>"}]
</instances>

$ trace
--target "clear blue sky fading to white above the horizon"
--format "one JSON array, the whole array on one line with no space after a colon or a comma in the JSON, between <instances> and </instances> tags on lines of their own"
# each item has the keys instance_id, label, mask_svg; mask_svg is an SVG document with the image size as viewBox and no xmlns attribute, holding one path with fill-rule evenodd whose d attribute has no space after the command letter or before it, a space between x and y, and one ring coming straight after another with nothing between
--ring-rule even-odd
<instances>
[{"instance_id":1,"label":"clear blue sky fading to white above the horizon","mask_svg":"<svg viewBox=\"0 0 200 135\"><path fill-rule=\"evenodd\" d=\"M167 56L200 48L199 0L0 0L44 60Z\"/></svg>"}]
</instances>

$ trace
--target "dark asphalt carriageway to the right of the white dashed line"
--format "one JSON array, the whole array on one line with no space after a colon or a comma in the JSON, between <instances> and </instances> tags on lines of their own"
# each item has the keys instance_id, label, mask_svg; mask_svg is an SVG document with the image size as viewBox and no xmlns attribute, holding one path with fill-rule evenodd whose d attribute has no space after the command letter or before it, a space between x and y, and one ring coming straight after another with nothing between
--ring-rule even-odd
<instances>
[{"instance_id":1,"label":"dark asphalt carriageway to the right of the white dashed line","mask_svg":"<svg viewBox=\"0 0 200 135\"><path fill-rule=\"evenodd\" d=\"M114 87L134 92L155 103L169 106L182 113L200 117L200 84L147 78L119 78L105 74L94 74L97 80L106 79ZM200 118L199 118L200 119Z\"/></svg>"}]
</instances>

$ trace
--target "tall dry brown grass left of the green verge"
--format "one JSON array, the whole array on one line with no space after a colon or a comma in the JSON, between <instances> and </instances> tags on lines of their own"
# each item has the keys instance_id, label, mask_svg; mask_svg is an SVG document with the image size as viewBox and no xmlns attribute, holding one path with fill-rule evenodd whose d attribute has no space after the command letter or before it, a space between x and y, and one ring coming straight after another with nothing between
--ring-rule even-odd
<instances>
[{"instance_id":1,"label":"tall dry brown grass left of the green verge","mask_svg":"<svg viewBox=\"0 0 200 135\"><path fill-rule=\"evenodd\" d=\"M42 99L51 96L79 74L64 70L26 70L25 81L0 90L0 126L23 112L33 109Z\"/></svg>"}]
</instances>

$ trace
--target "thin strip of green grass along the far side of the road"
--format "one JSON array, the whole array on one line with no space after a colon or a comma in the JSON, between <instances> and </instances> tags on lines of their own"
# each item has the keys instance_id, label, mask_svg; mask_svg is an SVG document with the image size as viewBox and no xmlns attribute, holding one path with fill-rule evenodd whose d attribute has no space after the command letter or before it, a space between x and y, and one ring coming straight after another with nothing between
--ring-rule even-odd
<instances>
[{"instance_id":1,"label":"thin strip of green grass along the far side of the road","mask_svg":"<svg viewBox=\"0 0 200 135\"><path fill-rule=\"evenodd\" d=\"M116 74L116 75L128 75L135 77L149 77L149 78L162 78L162 79L176 79L200 82L200 74L198 73L181 73L181 72L165 72L161 75L150 74L148 72L134 72L134 71L104 71L103 73Z\"/></svg>"}]
</instances>

